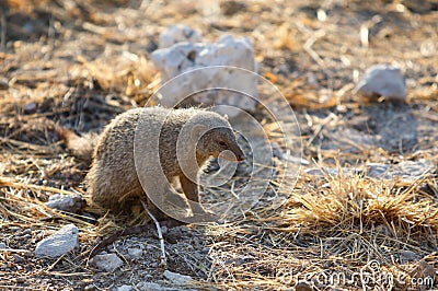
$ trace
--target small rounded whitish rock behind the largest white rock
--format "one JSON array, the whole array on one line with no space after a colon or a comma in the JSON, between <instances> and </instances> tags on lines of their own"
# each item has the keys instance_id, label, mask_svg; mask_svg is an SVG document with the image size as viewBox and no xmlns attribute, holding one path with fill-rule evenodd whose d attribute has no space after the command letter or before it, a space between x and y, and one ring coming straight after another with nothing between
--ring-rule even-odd
<instances>
[{"instance_id":1,"label":"small rounded whitish rock behind the largest white rock","mask_svg":"<svg viewBox=\"0 0 438 291\"><path fill-rule=\"evenodd\" d=\"M200 34L186 25L172 25L160 34L159 48L173 46L177 43L200 43Z\"/></svg>"}]
</instances>

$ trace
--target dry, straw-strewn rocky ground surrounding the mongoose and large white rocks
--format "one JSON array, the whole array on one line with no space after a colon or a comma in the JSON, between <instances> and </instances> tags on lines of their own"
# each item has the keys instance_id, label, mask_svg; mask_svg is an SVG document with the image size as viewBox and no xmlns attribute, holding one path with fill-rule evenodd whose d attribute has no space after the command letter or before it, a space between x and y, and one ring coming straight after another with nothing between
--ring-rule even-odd
<instances>
[{"instance_id":1,"label":"dry, straw-strewn rocky ground surrounding the mongoose and large white rocks","mask_svg":"<svg viewBox=\"0 0 438 291\"><path fill-rule=\"evenodd\" d=\"M0 289L436 289L437 23L433 0L0 1ZM103 237L148 219L91 206L89 165L54 125L100 132L143 106L162 81L150 56L173 24L204 42L249 37L293 109L302 158L258 107L275 177L257 203L227 222L163 228L165 268L153 229L89 261ZM402 102L357 92L373 65L401 69ZM250 161L204 199L231 197ZM76 213L46 203L56 195L77 197ZM48 258L54 234L67 253Z\"/></svg>"}]
</instances>

